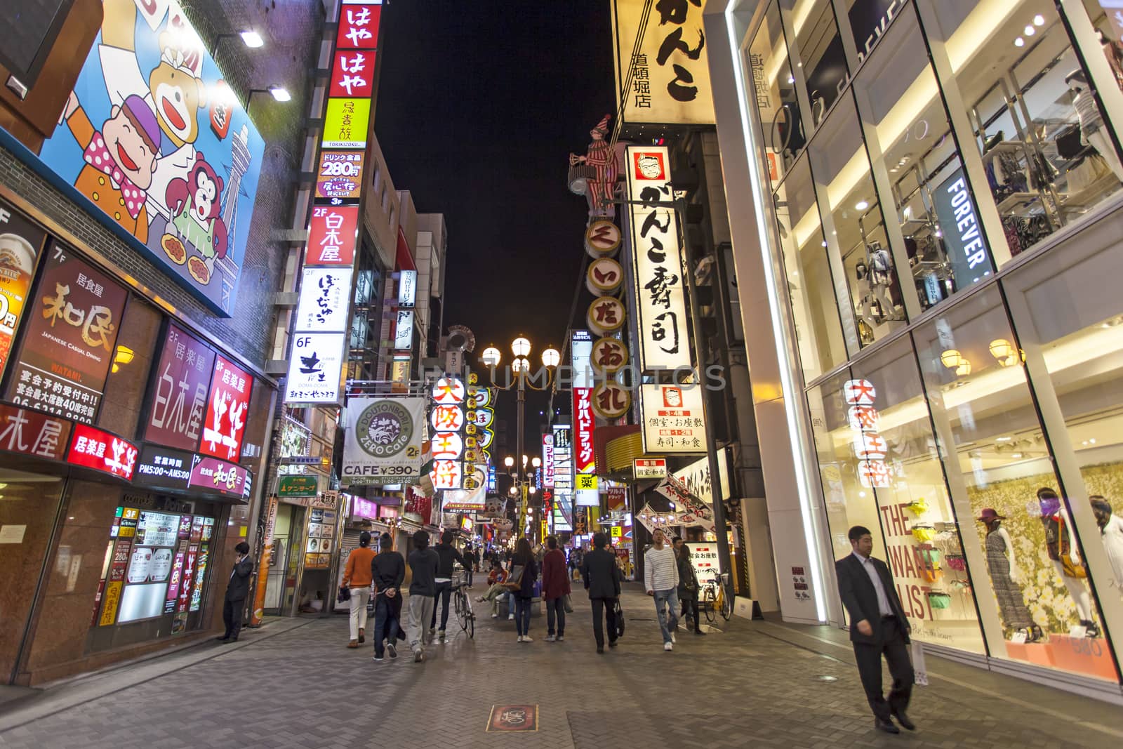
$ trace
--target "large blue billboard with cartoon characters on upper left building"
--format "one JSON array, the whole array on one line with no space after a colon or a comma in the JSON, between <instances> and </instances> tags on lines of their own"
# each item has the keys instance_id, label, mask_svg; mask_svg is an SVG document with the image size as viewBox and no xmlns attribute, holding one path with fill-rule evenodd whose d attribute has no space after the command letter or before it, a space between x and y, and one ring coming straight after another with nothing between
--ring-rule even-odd
<instances>
[{"instance_id":1,"label":"large blue billboard with cartoon characters on upper left building","mask_svg":"<svg viewBox=\"0 0 1123 749\"><path fill-rule=\"evenodd\" d=\"M39 157L229 316L265 144L175 0L106 0Z\"/></svg>"}]
</instances>

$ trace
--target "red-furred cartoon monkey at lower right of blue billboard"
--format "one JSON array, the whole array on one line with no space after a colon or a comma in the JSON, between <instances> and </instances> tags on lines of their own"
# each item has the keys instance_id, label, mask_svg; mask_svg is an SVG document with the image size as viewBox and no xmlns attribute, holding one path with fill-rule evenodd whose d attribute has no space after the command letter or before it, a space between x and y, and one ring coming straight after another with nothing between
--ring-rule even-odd
<instances>
[{"instance_id":1,"label":"red-furred cartoon monkey at lower right of blue billboard","mask_svg":"<svg viewBox=\"0 0 1123 749\"><path fill-rule=\"evenodd\" d=\"M226 257L226 223L220 216L222 177L201 153L195 154L185 180L176 177L168 183L164 198L172 211L171 225L207 258L208 267L216 257Z\"/></svg>"}]
</instances>

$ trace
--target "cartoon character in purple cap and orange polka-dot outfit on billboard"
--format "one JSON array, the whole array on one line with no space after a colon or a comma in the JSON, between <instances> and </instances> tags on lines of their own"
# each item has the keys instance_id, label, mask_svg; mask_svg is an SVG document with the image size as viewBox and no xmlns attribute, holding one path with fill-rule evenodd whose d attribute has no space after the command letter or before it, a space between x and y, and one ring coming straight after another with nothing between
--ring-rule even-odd
<instances>
[{"instance_id":1,"label":"cartoon character in purple cap and orange polka-dot outfit on billboard","mask_svg":"<svg viewBox=\"0 0 1123 749\"><path fill-rule=\"evenodd\" d=\"M156 171L159 126L137 95L110 109L109 119L93 129L77 97L71 92L63 112L85 164L74 186L112 216L140 241L148 237L147 191Z\"/></svg>"}]
</instances>

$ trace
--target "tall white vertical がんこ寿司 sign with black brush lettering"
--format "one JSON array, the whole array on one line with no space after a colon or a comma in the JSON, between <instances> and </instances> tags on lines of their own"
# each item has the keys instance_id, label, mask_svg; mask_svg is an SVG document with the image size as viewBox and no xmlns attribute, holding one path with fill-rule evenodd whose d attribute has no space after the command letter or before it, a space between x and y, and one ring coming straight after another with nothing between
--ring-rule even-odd
<instances>
[{"instance_id":1,"label":"tall white vertical \u304c\u3093\u3053\u5bff\u53f8 sign with black brush lettering","mask_svg":"<svg viewBox=\"0 0 1123 749\"><path fill-rule=\"evenodd\" d=\"M683 254L670 202L670 159L665 146L629 146L628 194L641 204L629 208L634 250L636 326L640 368L674 369L691 365Z\"/></svg>"}]
</instances>

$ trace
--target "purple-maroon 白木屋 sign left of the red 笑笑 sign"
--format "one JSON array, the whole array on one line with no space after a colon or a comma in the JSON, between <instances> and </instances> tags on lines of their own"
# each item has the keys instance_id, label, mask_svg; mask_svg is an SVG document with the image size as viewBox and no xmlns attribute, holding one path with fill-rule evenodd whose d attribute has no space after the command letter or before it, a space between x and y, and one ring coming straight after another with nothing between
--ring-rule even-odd
<instances>
[{"instance_id":1,"label":"purple-maroon \u767d\u6728\u5c4b sign left of the red \u7b11\u7b11 sign","mask_svg":"<svg viewBox=\"0 0 1123 749\"><path fill-rule=\"evenodd\" d=\"M184 450L199 446L214 356L210 346L168 323L153 372L145 441Z\"/></svg>"}]
</instances>

